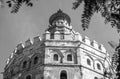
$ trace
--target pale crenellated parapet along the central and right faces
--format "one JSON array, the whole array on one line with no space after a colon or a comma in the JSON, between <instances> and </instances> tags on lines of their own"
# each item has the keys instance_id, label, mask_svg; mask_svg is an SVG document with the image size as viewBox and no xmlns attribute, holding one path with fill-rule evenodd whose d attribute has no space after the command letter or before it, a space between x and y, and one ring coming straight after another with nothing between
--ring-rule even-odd
<instances>
[{"instance_id":1,"label":"pale crenellated parapet along the central and right faces","mask_svg":"<svg viewBox=\"0 0 120 79\"><path fill-rule=\"evenodd\" d=\"M53 36L49 31L45 33L46 40L61 40L61 33L59 31L54 32ZM51 38L53 37L53 38ZM87 36L83 37L79 32L71 30L69 33L64 34L64 40L74 40L85 43L88 46L91 46L99 51L106 53L106 49L102 44L98 44L95 40L91 41Z\"/></svg>"}]
</instances>

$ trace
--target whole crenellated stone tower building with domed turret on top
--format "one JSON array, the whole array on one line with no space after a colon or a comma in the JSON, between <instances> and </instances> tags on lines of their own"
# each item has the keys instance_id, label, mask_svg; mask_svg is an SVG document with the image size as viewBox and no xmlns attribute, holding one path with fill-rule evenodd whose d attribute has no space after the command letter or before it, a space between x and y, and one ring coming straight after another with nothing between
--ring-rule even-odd
<instances>
[{"instance_id":1,"label":"whole crenellated stone tower building with domed turret on top","mask_svg":"<svg viewBox=\"0 0 120 79\"><path fill-rule=\"evenodd\" d=\"M112 79L113 69L102 44L75 32L70 17L58 10L43 37L16 46L3 79Z\"/></svg>"}]
</instances>

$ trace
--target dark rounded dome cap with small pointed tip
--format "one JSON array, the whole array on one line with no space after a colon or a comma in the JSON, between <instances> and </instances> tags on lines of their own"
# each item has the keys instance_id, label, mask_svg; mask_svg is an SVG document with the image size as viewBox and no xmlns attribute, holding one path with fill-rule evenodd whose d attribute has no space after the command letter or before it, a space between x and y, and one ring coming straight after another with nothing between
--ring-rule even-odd
<instances>
[{"instance_id":1,"label":"dark rounded dome cap with small pointed tip","mask_svg":"<svg viewBox=\"0 0 120 79\"><path fill-rule=\"evenodd\" d=\"M70 24L71 19L70 17L66 14L63 13L61 9L59 9L56 13L54 13L50 19L49 19L49 23L52 25L52 22L58 19L65 19L67 20L67 22Z\"/></svg>"}]
</instances>

